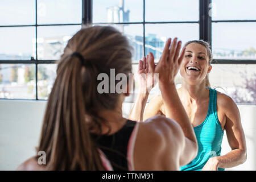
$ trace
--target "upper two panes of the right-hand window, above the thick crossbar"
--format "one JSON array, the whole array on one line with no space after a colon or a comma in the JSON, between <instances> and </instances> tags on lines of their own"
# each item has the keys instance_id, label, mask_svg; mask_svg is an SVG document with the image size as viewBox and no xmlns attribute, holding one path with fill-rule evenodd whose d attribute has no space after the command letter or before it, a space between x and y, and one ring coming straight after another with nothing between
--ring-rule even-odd
<instances>
[{"instance_id":1,"label":"upper two panes of the right-hand window, above the thick crossbar","mask_svg":"<svg viewBox=\"0 0 256 182\"><path fill-rule=\"evenodd\" d=\"M253 0L212 0L214 59L256 60L254 6Z\"/></svg>"}]
</instances>

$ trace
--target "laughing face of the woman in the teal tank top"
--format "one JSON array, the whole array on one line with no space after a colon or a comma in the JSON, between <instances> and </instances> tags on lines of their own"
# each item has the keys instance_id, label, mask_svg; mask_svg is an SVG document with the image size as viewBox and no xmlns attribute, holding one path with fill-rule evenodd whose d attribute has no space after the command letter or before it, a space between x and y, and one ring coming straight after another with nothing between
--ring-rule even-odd
<instances>
[{"instance_id":1,"label":"laughing face of the woman in the teal tank top","mask_svg":"<svg viewBox=\"0 0 256 182\"><path fill-rule=\"evenodd\" d=\"M181 77L193 85L199 84L211 69L207 48L199 43L188 44L180 65Z\"/></svg>"}]
</instances>

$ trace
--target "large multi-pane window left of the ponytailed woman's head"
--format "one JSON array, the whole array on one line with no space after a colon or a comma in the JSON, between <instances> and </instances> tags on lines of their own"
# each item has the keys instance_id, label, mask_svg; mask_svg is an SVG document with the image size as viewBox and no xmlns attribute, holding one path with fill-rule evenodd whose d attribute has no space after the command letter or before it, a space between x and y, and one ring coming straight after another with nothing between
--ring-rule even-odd
<instances>
[{"instance_id":1,"label":"large multi-pane window left of the ponytailed woman's head","mask_svg":"<svg viewBox=\"0 0 256 182\"><path fill-rule=\"evenodd\" d=\"M46 100L82 1L2 0L0 17L0 98Z\"/></svg>"}]
</instances>

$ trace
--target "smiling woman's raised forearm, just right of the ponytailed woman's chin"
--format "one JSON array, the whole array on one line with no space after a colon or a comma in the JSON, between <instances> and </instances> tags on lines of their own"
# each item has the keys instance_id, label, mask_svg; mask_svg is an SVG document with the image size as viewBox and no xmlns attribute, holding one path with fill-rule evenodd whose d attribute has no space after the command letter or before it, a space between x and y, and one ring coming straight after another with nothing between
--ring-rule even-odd
<instances>
[{"instance_id":1,"label":"smiling woman's raised forearm, just right of the ponytailed woman's chin","mask_svg":"<svg viewBox=\"0 0 256 182\"><path fill-rule=\"evenodd\" d=\"M143 121L143 113L147 103L148 95L148 93L138 93L129 115L130 120Z\"/></svg>"}]
</instances>

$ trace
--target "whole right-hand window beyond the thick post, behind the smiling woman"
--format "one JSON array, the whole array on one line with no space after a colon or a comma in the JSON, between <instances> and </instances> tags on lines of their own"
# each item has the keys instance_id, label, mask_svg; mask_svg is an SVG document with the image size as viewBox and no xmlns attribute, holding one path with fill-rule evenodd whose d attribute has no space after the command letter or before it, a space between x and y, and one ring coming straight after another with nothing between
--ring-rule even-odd
<instances>
[{"instance_id":1,"label":"whole right-hand window beyond the thick post, behind the smiling woman","mask_svg":"<svg viewBox=\"0 0 256 182\"><path fill-rule=\"evenodd\" d=\"M217 64L210 73L238 104L256 104L256 13L253 0L212 0L212 52Z\"/></svg>"}]
</instances>

